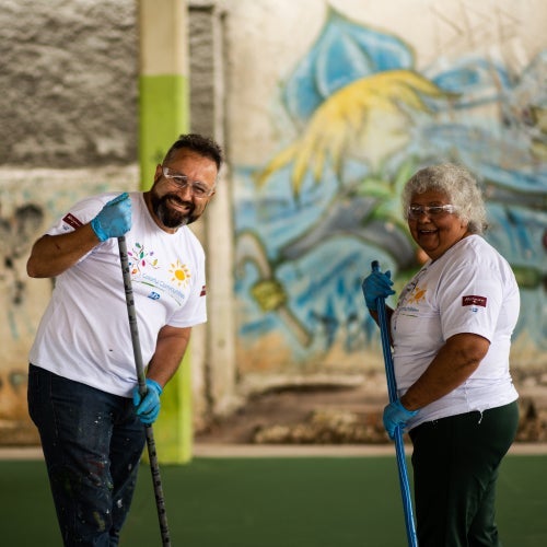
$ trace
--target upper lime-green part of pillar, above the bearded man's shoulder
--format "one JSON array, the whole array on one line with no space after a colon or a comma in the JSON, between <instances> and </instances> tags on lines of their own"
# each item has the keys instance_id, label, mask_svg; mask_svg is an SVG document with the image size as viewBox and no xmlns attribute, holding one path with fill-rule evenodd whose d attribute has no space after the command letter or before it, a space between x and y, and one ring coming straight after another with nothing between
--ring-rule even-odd
<instances>
[{"instance_id":1,"label":"upper lime-green part of pillar, above the bearded man's shoulder","mask_svg":"<svg viewBox=\"0 0 547 547\"><path fill-rule=\"evenodd\" d=\"M148 189L155 166L176 138L188 131L189 82L185 75L139 79L139 163L141 188Z\"/></svg>"}]
</instances>

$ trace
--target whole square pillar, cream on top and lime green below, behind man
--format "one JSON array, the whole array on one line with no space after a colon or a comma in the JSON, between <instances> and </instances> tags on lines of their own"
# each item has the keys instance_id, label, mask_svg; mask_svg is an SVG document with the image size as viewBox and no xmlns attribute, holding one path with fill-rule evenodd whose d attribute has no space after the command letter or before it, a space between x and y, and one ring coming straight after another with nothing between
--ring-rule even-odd
<instances>
[{"instance_id":1,"label":"whole square pillar, cream on top and lime green below, behind man","mask_svg":"<svg viewBox=\"0 0 547 547\"><path fill-rule=\"evenodd\" d=\"M187 132L188 15L185 0L140 0L139 164L141 188L148 189L168 147ZM163 463L191 458L191 375L188 349L177 374L165 387L154 426L158 457Z\"/></svg>"}]
</instances>

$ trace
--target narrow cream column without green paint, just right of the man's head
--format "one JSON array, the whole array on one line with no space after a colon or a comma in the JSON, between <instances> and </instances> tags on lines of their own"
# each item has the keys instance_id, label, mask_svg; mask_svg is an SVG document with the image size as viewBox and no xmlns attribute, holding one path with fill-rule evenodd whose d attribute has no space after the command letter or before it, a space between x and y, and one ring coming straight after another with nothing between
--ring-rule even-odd
<instances>
[{"instance_id":1,"label":"narrow cream column without green paint, just right of the man's head","mask_svg":"<svg viewBox=\"0 0 547 547\"><path fill-rule=\"evenodd\" d=\"M224 138L224 12L216 1L189 0L188 4L191 130L213 137L229 155ZM235 393L234 231L228 160L217 194L197 225L197 235L207 252L209 306L207 329L196 331L205 338L201 346L205 366L198 370L196 362L193 368L194 393L198 394L194 406L197 428L207 424L211 415L225 415L238 404Z\"/></svg>"}]
</instances>

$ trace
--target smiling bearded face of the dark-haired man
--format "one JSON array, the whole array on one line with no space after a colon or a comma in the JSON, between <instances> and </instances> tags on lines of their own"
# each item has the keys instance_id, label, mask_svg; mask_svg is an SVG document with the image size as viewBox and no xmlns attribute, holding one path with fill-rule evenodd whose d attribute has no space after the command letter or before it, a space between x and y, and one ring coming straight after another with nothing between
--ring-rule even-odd
<instances>
[{"instance_id":1,"label":"smiling bearded face of the dark-haired man","mask_svg":"<svg viewBox=\"0 0 547 547\"><path fill-rule=\"evenodd\" d=\"M185 175L190 183L198 182L211 190L217 182L217 164L213 160L191 150L179 149L163 165L170 173ZM174 233L178 228L190 224L201 217L207 203L214 195L197 197L190 185L185 188L177 186L163 174L162 165L155 168L154 184L144 193L144 200L155 223L165 232Z\"/></svg>"}]
</instances>

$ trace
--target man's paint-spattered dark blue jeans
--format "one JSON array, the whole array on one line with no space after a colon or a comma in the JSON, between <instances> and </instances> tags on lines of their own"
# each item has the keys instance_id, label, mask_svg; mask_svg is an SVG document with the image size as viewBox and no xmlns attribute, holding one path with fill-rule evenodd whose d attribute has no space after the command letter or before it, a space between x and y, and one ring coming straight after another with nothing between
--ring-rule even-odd
<instances>
[{"instance_id":1,"label":"man's paint-spattered dark blue jeans","mask_svg":"<svg viewBox=\"0 0 547 547\"><path fill-rule=\"evenodd\" d=\"M65 546L118 545L146 442L131 399L31 364L28 411Z\"/></svg>"}]
</instances>

